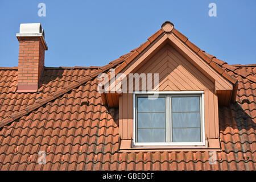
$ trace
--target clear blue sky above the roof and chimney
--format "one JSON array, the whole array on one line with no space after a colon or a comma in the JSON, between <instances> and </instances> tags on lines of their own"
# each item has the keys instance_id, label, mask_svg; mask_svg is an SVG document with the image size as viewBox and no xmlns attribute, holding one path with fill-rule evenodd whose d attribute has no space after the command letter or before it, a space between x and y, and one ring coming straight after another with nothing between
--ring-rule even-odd
<instances>
[{"instance_id":1,"label":"clear blue sky above the roof and chimney","mask_svg":"<svg viewBox=\"0 0 256 182\"><path fill-rule=\"evenodd\" d=\"M46 4L46 17L38 4ZM210 17L209 3L217 17ZM20 23L42 23L46 67L101 66L144 43L166 20L229 64L256 63L256 1L3 1L0 67L18 66Z\"/></svg>"}]
</instances>

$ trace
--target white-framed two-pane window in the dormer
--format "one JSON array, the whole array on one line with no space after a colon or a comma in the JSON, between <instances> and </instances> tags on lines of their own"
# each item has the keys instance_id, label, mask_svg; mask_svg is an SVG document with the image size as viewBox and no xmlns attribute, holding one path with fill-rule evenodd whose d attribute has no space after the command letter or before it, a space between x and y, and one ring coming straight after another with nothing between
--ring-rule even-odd
<instances>
[{"instance_id":1,"label":"white-framed two-pane window in the dormer","mask_svg":"<svg viewBox=\"0 0 256 182\"><path fill-rule=\"evenodd\" d=\"M134 94L135 145L204 144L203 92L148 93Z\"/></svg>"}]
</instances>

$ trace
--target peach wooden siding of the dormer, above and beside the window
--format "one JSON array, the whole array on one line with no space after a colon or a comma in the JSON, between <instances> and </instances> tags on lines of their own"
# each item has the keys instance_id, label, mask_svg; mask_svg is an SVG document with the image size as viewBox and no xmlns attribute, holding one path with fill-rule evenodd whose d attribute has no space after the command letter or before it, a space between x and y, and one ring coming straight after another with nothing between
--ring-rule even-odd
<instances>
[{"instance_id":1,"label":"peach wooden siding of the dormer, above and beside the window","mask_svg":"<svg viewBox=\"0 0 256 182\"><path fill-rule=\"evenodd\" d=\"M218 138L218 100L217 95L214 94L214 83L179 52L167 44L137 73L159 73L159 91L204 90L205 138ZM140 83L139 90L143 89L146 88L142 88ZM121 139L133 139L133 94L131 93L123 93L119 97L119 125Z\"/></svg>"}]
</instances>

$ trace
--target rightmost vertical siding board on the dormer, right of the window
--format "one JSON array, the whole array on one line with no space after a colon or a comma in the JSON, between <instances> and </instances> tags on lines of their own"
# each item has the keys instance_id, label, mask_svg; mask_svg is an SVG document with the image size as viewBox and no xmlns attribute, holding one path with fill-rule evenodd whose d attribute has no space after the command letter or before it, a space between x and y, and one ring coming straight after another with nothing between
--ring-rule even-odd
<instances>
[{"instance_id":1,"label":"rightmost vertical siding board on the dormer, right of the window","mask_svg":"<svg viewBox=\"0 0 256 182\"><path fill-rule=\"evenodd\" d=\"M208 91L209 107L206 108L209 110L209 137L215 138L215 118L214 118L214 94L209 90Z\"/></svg>"}]
</instances>

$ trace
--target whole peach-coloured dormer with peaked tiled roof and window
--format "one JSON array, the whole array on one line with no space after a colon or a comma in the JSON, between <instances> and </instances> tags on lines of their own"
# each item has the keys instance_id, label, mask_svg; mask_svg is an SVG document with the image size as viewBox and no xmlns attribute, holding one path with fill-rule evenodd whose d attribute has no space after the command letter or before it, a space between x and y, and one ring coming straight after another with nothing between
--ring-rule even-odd
<instances>
[{"instance_id":1,"label":"whole peach-coloured dormer with peaked tiled roof and window","mask_svg":"<svg viewBox=\"0 0 256 182\"><path fill-rule=\"evenodd\" d=\"M235 101L238 81L216 57L164 22L123 59L101 80L120 150L220 150L218 106Z\"/></svg>"}]
</instances>

